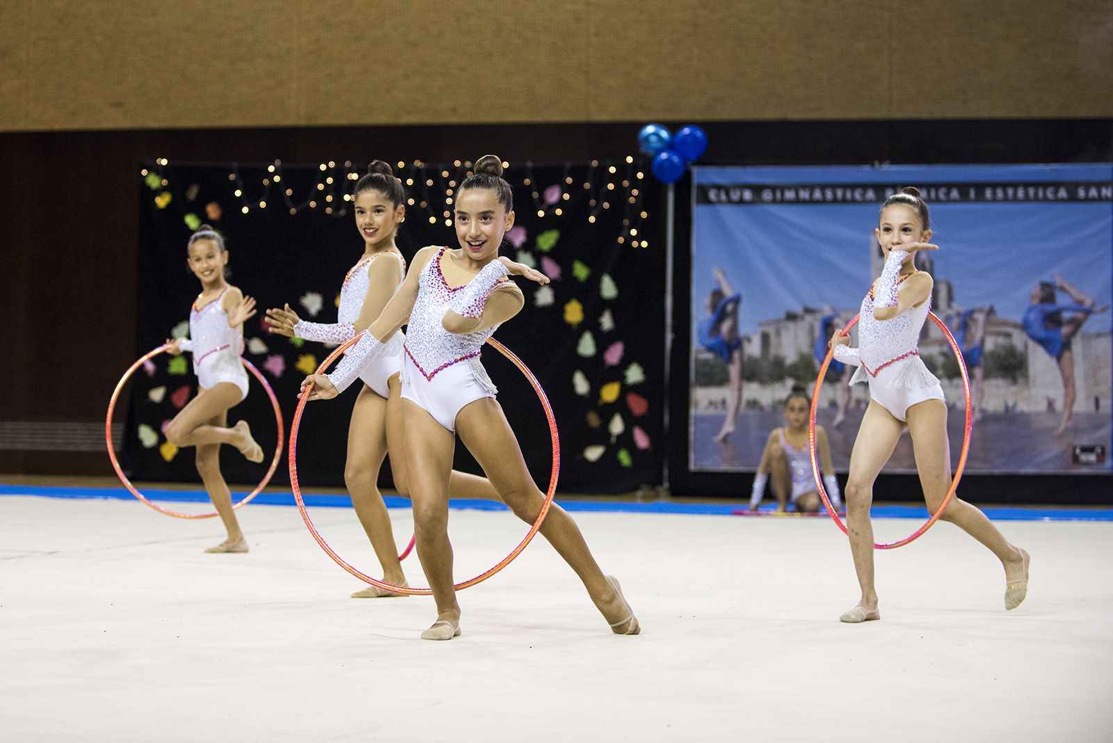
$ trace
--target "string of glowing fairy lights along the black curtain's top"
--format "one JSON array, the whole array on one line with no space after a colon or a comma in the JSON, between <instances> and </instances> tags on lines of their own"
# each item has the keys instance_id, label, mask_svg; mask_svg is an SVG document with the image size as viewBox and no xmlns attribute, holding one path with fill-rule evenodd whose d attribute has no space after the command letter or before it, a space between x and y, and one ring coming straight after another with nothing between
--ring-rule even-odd
<instances>
[{"instance_id":1,"label":"string of glowing fairy lights along the black curtain's top","mask_svg":"<svg viewBox=\"0 0 1113 743\"><path fill-rule=\"evenodd\" d=\"M452 204L460 184L473 172L472 162L454 160L451 164L434 165L422 160L400 160L394 165L395 174L400 174L398 178L405 186L407 209L421 209L430 224L443 220L445 226L451 227ZM503 161L502 165L504 170L509 170L510 162ZM636 162L633 156L618 161L591 160L587 164L587 174L580 182L572 175L578 165L565 162L556 181L542 184L534 174L534 164L524 164L521 186L530 188L533 214L540 219L564 218L572 212L573 206L585 200L587 220L594 224L603 212L621 209L622 230L617 236L617 241L620 245L629 244L633 248L648 248L649 241L639 235L642 222L649 219L644 206L646 166ZM156 191L155 200L159 208L165 208L173 198L167 178L168 166L168 159L158 158L152 166L139 171L148 187ZM302 170L306 166L290 167ZM232 198L238 202L244 215L255 210L285 208L290 215L319 210L329 217L339 218L347 215L346 205L353 200L356 181L363 176L358 168L361 166L351 160L317 164L312 186L306 192L295 197L295 187L284 170L282 160L276 159L267 165L242 166L234 162L228 172L228 187ZM297 179L303 179L301 174ZM511 186L515 184L511 181ZM186 222L195 228L190 222L198 219L194 215L187 215Z\"/></svg>"}]
</instances>

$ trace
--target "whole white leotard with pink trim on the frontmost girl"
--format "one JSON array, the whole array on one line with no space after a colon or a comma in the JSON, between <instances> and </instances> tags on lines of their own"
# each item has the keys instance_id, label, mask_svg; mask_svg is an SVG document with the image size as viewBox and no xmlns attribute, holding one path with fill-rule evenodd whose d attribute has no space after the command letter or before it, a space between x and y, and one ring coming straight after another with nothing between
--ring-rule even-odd
<instances>
[{"instance_id":1,"label":"whole white leotard with pink trim on the frontmost girl","mask_svg":"<svg viewBox=\"0 0 1113 743\"><path fill-rule=\"evenodd\" d=\"M406 329L402 397L455 430L456 415L465 405L498 392L480 363L480 350L499 326L464 334L444 329L445 310L465 288L451 288L444 279L441 260L446 252L447 248L437 250L417 279L417 298Z\"/></svg>"}]
</instances>

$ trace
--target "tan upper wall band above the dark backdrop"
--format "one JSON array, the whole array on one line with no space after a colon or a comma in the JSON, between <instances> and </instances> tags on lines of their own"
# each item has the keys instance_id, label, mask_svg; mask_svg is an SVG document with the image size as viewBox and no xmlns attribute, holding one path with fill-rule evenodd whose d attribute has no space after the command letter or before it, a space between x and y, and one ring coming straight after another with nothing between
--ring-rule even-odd
<instances>
[{"instance_id":1,"label":"tan upper wall band above the dark backdrop","mask_svg":"<svg viewBox=\"0 0 1113 743\"><path fill-rule=\"evenodd\" d=\"M1113 0L6 0L0 130L1104 118Z\"/></svg>"}]
</instances>

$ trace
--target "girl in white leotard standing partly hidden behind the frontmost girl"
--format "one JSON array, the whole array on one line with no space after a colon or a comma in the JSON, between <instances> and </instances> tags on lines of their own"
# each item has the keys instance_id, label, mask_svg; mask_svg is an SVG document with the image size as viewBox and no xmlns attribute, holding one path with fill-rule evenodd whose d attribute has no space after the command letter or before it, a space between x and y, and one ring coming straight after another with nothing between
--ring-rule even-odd
<instances>
[{"instance_id":1,"label":"girl in white leotard standing partly hidden behind the frontmost girl","mask_svg":"<svg viewBox=\"0 0 1113 743\"><path fill-rule=\"evenodd\" d=\"M375 160L352 194L355 225L363 238L359 260L348 270L341 287L337 323L308 323L287 304L267 310L267 329L287 337L322 343L344 343L378 317L386 303L402 287L406 261L395 245L398 226L405 221L405 191L391 166ZM383 568L383 581L406 586L402 561L395 547L391 517L378 492L378 472L387 450L391 473L398 495L408 497L404 448L402 369L405 335L401 330L387 341L384 353L359 373L359 395L348 423L347 462L344 483L352 505ZM490 482L475 475L453 470L450 492L465 498L498 499ZM368 585L352 594L353 598L385 598L405 594Z\"/></svg>"}]
</instances>

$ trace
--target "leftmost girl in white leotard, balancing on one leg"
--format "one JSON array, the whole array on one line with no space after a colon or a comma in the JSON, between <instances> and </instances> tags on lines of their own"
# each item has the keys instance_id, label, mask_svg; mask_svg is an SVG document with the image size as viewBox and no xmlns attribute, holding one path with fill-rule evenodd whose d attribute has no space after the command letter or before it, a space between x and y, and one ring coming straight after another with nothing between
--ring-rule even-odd
<instances>
[{"instance_id":1,"label":"leftmost girl in white leotard, balancing on one leg","mask_svg":"<svg viewBox=\"0 0 1113 743\"><path fill-rule=\"evenodd\" d=\"M220 445L235 446L248 462L263 462L263 448L252 437L247 422L228 427L228 410L247 397L247 371L239 355L244 350L244 321L255 315L255 299L225 280L228 251L224 238L208 225L190 236L188 257L201 293L189 311L189 337L167 339L166 350L174 356L193 354L198 393L167 425L166 438L178 447L196 447L197 473L228 532L224 542L205 552L242 553L247 552L247 539L220 473Z\"/></svg>"}]
</instances>

